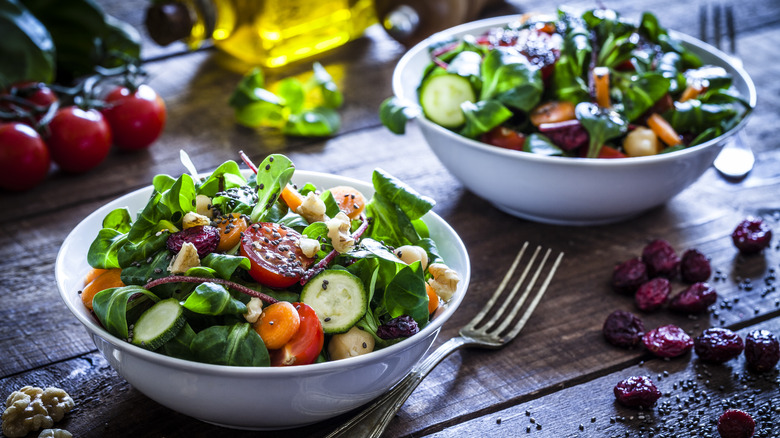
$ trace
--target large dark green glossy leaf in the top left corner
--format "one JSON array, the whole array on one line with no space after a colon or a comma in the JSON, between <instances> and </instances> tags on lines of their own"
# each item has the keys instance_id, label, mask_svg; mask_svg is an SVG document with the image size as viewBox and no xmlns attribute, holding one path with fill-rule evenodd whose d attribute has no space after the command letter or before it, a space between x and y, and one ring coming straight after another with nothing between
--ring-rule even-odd
<instances>
[{"instance_id":1,"label":"large dark green glossy leaf in the top left corner","mask_svg":"<svg viewBox=\"0 0 780 438\"><path fill-rule=\"evenodd\" d=\"M0 2L0 35L0 89L21 81L54 80L56 54L51 34L17 0Z\"/></svg>"}]
</instances>

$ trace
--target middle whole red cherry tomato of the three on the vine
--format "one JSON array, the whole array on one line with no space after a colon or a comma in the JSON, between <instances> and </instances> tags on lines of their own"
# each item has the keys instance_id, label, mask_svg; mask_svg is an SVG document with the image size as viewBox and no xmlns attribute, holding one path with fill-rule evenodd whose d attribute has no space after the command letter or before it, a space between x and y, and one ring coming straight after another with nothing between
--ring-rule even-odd
<instances>
[{"instance_id":1,"label":"middle whole red cherry tomato of the three on the vine","mask_svg":"<svg viewBox=\"0 0 780 438\"><path fill-rule=\"evenodd\" d=\"M86 172L108 156L111 129L100 112L69 106L54 115L46 143L62 170Z\"/></svg>"}]
</instances>

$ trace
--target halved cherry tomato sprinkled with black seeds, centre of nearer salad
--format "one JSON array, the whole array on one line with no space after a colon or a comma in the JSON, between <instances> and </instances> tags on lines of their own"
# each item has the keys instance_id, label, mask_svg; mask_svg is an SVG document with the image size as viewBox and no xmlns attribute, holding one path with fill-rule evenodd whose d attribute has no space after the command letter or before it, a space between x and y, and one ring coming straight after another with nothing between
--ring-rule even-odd
<instances>
[{"instance_id":1,"label":"halved cherry tomato sprinkled with black seeds, centre of nearer salad","mask_svg":"<svg viewBox=\"0 0 780 438\"><path fill-rule=\"evenodd\" d=\"M268 287L284 288L301 279L313 260L303 255L303 236L292 228L259 222L244 231L241 255L251 262L249 275Z\"/></svg>"}]
</instances>

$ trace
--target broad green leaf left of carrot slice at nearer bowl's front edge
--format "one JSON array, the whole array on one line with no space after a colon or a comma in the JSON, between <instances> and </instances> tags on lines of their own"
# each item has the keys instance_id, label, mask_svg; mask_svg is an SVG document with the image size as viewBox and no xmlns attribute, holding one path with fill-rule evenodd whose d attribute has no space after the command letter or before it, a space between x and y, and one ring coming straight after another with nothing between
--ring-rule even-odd
<instances>
[{"instance_id":1,"label":"broad green leaf left of carrot slice at nearer bowl's front edge","mask_svg":"<svg viewBox=\"0 0 780 438\"><path fill-rule=\"evenodd\" d=\"M268 349L248 323L215 325L202 330L190 344L201 362L231 366L270 366Z\"/></svg>"}]
</instances>

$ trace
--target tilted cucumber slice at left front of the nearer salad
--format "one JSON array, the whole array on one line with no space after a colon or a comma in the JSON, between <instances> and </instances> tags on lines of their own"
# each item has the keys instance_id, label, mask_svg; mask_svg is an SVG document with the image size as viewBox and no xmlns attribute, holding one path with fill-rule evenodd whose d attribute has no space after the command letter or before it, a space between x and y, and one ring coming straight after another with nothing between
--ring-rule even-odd
<instances>
[{"instance_id":1,"label":"tilted cucumber slice at left front of the nearer salad","mask_svg":"<svg viewBox=\"0 0 780 438\"><path fill-rule=\"evenodd\" d=\"M184 310L175 298L162 300L138 318L133 327L132 343L156 350L171 340L184 326Z\"/></svg>"}]
</instances>

